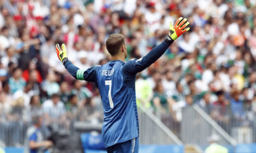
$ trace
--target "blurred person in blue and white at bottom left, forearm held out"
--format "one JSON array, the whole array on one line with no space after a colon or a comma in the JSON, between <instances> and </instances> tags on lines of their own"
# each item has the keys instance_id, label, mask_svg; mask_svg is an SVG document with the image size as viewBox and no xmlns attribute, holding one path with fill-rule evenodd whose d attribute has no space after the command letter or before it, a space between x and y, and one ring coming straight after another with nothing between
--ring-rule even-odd
<instances>
[{"instance_id":1,"label":"blurred person in blue and white at bottom left, forearm held out","mask_svg":"<svg viewBox=\"0 0 256 153\"><path fill-rule=\"evenodd\" d=\"M41 153L52 146L52 142L44 140L40 131L42 117L36 115L32 117L33 126L29 127L26 133L25 153Z\"/></svg>"}]
</instances>

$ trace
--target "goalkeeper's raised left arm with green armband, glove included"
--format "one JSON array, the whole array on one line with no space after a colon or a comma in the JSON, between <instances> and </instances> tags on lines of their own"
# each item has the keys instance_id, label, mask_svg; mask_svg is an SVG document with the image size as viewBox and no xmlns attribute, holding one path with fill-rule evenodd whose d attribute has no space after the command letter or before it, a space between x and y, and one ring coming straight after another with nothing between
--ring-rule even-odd
<instances>
[{"instance_id":1,"label":"goalkeeper's raised left arm with green armband, glove included","mask_svg":"<svg viewBox=\"0 0 256 153\"><path fill-rule=\"evenodd\" d=\"M64 43L61 45L61 48L62 50L60 49L59 44L56 44L56 53L72 77L77 80L86 80L88 82L97 83L97 69L100 68L99 66L93 66L89 69L79 69L72 64L72 62L68 61L67 50Z\"/></svg>"}]
</instances>

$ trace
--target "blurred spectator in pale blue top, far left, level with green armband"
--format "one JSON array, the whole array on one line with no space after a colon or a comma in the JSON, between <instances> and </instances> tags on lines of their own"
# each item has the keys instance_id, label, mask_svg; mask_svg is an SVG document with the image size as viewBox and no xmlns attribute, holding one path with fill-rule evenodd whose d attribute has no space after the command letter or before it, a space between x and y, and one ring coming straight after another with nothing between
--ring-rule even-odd
<instances>
[{"instance_id":1,"label":"blurred spectator in pale blue top, far left, level with green armband","mask_svg":"<svg viewBox=\"0 0 256 153\"><path fill-rule=\"evenodd\" d=\"M23 90L26 82L22 78L22 69L14 68L12 72L12 77L9 79L10 90L12 94L18 90Z\"/></svg>"}]
</instances>

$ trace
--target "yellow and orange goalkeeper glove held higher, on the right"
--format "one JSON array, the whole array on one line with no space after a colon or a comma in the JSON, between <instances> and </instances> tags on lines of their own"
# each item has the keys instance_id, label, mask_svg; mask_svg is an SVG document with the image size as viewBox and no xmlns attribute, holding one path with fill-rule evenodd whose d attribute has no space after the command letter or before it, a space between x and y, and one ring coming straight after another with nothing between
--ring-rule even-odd
<instances>
[{"instance_id":1,"label":"yellow and orange goalkeeper glove held higher, on the right","mask_svg":"<svg viewBox=\"0 0 256 153\"><path fill-rule=\"evenodd\" d=\"M176 40L179 36L186 31L189 31L189 22L187 18L180 17L173 26L173 22L170 22L170 32L169 36L172 40Z\"/></svg>"}]
</instances>

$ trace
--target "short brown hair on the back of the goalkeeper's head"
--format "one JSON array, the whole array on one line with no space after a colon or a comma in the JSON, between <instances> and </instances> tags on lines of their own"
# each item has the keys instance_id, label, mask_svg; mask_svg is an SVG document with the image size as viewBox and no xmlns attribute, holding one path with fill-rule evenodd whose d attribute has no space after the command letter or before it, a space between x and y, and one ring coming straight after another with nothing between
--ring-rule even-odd
<instances>
[{"instance_id":1,"label":"short brown hair on the back of the goalkeeper's head","mask_svg":"<svg viewBox=\"0 0 256 153\"><path fill-rule=\"evenodd\" d=\"M111 34L106 41L106 47L109 54L118 54L120 47L124 44L124 36L122 34Z\"/></svg>"}]
</instances>

